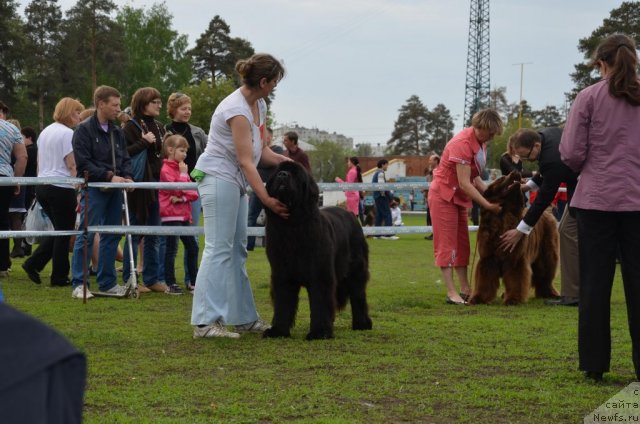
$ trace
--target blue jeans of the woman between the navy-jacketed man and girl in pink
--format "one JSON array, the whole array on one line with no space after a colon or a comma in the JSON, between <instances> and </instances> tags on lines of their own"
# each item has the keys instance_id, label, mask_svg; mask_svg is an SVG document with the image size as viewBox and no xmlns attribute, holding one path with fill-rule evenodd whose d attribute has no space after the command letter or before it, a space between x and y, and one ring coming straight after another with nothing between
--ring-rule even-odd
<instances>
[{"instance_id":1,"label":"blue jeans of the woman between the navy-jacketed man and girl in pink","mask_svg":"<svg viewBox=\"0 0 640 424\"><path fill-rule=\"evenodd\" d=\"M138 218L135 216L135 212L129 210L129 222L131 225L138 225ZM160 226L160 207L158 201L149 204L148 217L146 225ZM132 249L133 249L133 262L137 263L138 259L138 245L140 244L140 236L131 236ZM142 251L144 255L144 265L142 267L142 281L146 286L151 286L158 281L164 281L164 274L160 274L160 258L158 256L158 236L145 235L144 236L144 249ZM124 244L124 259L122 260L122 279L126 282L129 279L131 273L131 265L129 259L129 241ZM164 271L163 271L164 272Z\"/></svg>"}]
</instances>

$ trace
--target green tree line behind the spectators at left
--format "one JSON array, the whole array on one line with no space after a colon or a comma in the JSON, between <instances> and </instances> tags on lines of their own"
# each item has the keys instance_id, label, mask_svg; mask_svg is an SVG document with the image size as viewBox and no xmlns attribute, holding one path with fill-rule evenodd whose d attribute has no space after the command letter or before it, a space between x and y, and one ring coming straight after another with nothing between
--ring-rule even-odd
<instances>
[{"instance_id":1,"label":"green tree line behind the spectators at left","mask_svg":"<svg viewBox=\"0 0 640 424\"><path fill-rule=\"evenodd\" d=\"M78 0L63 13L57 0L32 0L24 17L17 7L0 0L0 99L36 129L51 122L60 98L89 107L102 84L116 87L123 105L140 87L155 87L163 98L189 94L192 122L207 129L215 106L240 84L235 63L254 53L218 15L189 48L164 2L118 8L111 0Z\"/></svg>"}]
</instances>

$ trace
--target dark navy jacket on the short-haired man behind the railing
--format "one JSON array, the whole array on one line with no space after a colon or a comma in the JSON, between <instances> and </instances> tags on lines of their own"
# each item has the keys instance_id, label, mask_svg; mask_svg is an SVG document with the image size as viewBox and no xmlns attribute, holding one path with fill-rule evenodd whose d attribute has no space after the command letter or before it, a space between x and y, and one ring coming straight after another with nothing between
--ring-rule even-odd
<instances>
[{"instance_id":1,"label":"dark navy jacket on the short-haired man behind the railing","mask_svg":"<svg viewBox=\"0 0 640 424\"><path fill-rule=\"evenodd\" d=\"M115 170L111 153L111 135L116 149ZM109 182L114 175L131 178L131 163L124 133L112 122L109 122L109 131L105 132L94 114L78 125L71 143L78 177L83 178L84 171L88 171L89 181L92 182Z\"/></svg>"}]
</instances>

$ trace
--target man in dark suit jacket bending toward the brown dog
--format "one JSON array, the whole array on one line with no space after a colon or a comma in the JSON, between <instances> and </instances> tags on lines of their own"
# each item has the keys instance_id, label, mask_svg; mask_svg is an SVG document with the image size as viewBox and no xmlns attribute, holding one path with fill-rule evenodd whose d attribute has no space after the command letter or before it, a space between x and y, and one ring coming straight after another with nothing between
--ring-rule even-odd
<instances>
[{"instance_id":1,"label":"man in dark suit jacket bending toward the brown dog","mask_svg":"<svg viewBox=\"0 0 640 424\"><path fill-rule=\"evenodd\" d=\"M567 184L567 198L575 190L577 174L560 159L560 128L543 128L538 131L519 129L511 136L515 153L522 160L538 161L539 172L526 184L522 191L538 190L533 202L518 227L505 232L501 246L513 250L522 237L529 234L543 212L549 207L561 183ZM565 208L558 230L560 232L560 299L547 300L550 305L577 306L580 284L578 269L578 227L570 208Z\"/></svg>"}]
</instances>

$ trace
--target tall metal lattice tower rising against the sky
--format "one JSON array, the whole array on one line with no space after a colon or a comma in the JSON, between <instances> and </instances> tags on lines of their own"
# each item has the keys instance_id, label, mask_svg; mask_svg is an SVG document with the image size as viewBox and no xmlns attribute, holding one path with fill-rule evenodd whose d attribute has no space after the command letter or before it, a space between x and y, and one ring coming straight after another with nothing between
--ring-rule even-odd
<instances>
[{"instance_id":1,"label":"tall metal lattice tower rising against the sky","mask_svg":"<svg viewBox=\"0 0 640 424\"><path fill-rule=\"evenodd\" d=\"M469 41L467 50L467 80L464 96L464 125L471 117L489 106L491 86L489 58L489 0L471 0Z\"/></svg>"}]
</instances>

